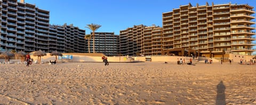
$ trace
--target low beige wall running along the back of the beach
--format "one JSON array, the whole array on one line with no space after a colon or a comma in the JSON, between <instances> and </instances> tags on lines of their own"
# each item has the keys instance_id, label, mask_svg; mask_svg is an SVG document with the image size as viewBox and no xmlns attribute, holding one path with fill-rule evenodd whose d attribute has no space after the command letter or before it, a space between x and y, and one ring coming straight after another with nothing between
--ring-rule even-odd
<instances>
[{"instance_id":1,"label":"low beige wall running along the back of the beach","mask_svg":"<svg viewBox=\"0 0 256 105\"><path fill-rule=\"evenodd\" d=\"M58 59L57 62L103 62L101 59L102 54L97 55L87 55L87 54L76 54L76 53L64 53L63 55L72 55L72 59ZM225 56L227 57L227 56ZM245 55L236 55L229 54L229 59L233 59L234 62L239 62L240 59L250 61L254 56L245 56ZM31 55L31 58L37 60L37 56ZM147 59L146 59L147 58ZM143 56L143 57L130 57L130 56L113 56L108 57L108 62L177 62L178 58L185 59L186 62L189 61L192 57L183 57L183 56ZM149 60L150 59L150 60ZM193 59L193 58L192 58ZM210 58L209 58L210 59ZM20 61L18 59L10 59L11 61ZM46 63L49 60L55 60L55 56L50 56L50 53L47 53L46 56L41 57L41 61ZM0 61L4 61L4 59L0 59ZM193 59L193 62L196 62L196 58ZM219 62L218 59L213 59L213 62Z\"/></svg>"}]
</instances>

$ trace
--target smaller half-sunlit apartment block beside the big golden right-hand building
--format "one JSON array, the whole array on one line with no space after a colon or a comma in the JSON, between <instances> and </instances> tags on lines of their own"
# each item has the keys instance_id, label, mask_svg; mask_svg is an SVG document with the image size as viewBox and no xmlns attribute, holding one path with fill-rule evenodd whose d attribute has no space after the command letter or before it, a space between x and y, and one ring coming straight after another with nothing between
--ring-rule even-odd
<instances>
[{"instance_id":1,"label":"smaller half-sunlit apartment block beside the big golden right-hand building","mask_svg":"<svg viewBox=\"0 0 256 105\"><path fill-rule=\"evenodd\" d=\"M162 28L155 25L134 25L120 31L120 52L122 55L161 55L163 50Z\"/></svg>"}]
</instances>

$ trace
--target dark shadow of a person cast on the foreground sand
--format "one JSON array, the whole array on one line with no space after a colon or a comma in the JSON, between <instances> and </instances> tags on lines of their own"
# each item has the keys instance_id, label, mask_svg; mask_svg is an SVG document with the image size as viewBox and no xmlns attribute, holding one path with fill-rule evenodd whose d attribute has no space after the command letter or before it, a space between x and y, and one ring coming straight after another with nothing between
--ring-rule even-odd
<instances>
[{"instance_id":1,"label":"dark shadow of a person cast on the foreground sand","mask_svg":"<svg viewBox=\"0 0 256 105\"><path fill-rule=\"evenodd\" d=\"M223 81L217 85L217 97L216 97L216 105L226 105L226 96L225 96L225 85Z\"/></svg>"}]
</instances>

